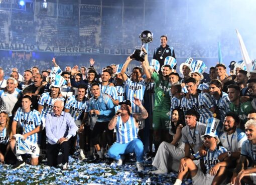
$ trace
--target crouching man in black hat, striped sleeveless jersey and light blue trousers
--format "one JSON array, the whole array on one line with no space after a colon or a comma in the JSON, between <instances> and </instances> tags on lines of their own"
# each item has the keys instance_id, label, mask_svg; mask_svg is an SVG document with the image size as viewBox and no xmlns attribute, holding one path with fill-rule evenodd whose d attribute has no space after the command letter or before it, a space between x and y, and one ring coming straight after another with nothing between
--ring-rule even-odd
<instances>
[{"instance_id":1,"label":"crouching man in black hat, striped sleeveless jersey and light blue trousers","mask_svg":"<svg viewBox=\"0 0 256 185\"><path fill-rule=\"evenodd\" d=\"M141 113L131 114L131 102L129 100L123 100L119 103L120 109L108 124L108 129L116 129L116 142L110 147L107 154L117 160L117 165L122 165L123 154L135 152L138 171L143 171L144 146L142 141L138 139L138 123L148 117L148 112L139 99L134 99L134 103L140 107Z\"/></svg>"}]
</instances>

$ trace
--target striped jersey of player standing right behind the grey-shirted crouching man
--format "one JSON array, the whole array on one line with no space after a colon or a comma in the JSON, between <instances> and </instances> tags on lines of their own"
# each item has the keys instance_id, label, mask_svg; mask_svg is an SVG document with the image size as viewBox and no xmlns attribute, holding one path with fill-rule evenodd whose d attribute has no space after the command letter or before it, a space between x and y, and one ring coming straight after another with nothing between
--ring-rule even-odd
<instances>
[{"instance_id":1,"label":"striped jersey of player standing right behind the grey-shirted crouching man","mask_svg":"<svg viewBox=\"0 0 256 185\"><path fill-rule=\"evenodd\" d=\"M198 93L198 97L190 96L189 106L200 114L199 122L207 123L207 119L213 117L210 108L214 107L214 101L208 93Z\"/></svg>"}]
</instances>

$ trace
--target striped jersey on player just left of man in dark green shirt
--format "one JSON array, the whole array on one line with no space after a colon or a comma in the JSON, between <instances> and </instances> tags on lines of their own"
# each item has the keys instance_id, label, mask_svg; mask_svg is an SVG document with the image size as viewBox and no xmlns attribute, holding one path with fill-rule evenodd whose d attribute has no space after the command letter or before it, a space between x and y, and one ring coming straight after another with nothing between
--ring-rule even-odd
<instances>
[{"instance_id":1,"label":"striped jersey on player just left of man in dark green shirt","mask_svg":"<svg viewBox=\"0 0 256 185\"><path fill-rule=\"evenodd\" d=\"M211 96L212 99L215 102L215 106L217 106L219 108L219 112L220 112L220 122L223 123L224 119L225 119L225 115L227 112L229 112L229 98L227 93L222 92L220 95L220 99L216 100L214 98L214 96Z\"/></svg>"}]
</instances>

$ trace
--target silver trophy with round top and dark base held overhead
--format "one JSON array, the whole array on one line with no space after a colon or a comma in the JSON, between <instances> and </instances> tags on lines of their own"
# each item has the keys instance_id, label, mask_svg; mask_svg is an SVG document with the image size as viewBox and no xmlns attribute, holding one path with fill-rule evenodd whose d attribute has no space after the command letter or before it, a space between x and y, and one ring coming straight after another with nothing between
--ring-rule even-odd
<instances>
[{"instance_id":1,"label":"silver trophy with round top and dark base held overhead","mask_svg":"<svg viewBox=\"0 0 256 185\"><path fill-rule=\"evenodd\" d=\"M150 31L143 31L139 38L142 41L142 46L139 49L135 49L133 55L131 56L132 59L135 59L137 61L143 62L145 59L145 53L142 51L144 48L145 44L151 43L153 41L153 35Z\"/></svg>"}]
</instances>

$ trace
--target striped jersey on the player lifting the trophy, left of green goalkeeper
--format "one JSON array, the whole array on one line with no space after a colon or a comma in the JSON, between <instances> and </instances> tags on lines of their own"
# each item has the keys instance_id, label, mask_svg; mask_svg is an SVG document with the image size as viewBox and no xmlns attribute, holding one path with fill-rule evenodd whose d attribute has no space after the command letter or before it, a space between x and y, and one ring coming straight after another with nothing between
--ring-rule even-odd
<instances>
[{"instance_id":1,"label":"striped jersey on the player lifting the trophy, left of green goalkeeper","mask_svg":"<svg viewBox=\"0 0 256 185\"><path fill-rule=\"evenodd\" d=\"M140 108L134 104L134 96L141 100L141 103L144 104L144 92L146 89L146 82L144 80L139 82L133 82L130 78L127 78L125 81L125 91L126 99L130 100L132 103L132 112L140 112Z\"/></svg>"}]
</instances>

